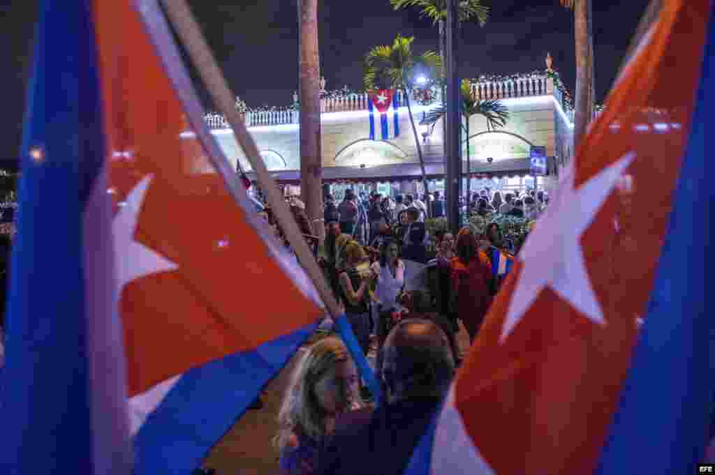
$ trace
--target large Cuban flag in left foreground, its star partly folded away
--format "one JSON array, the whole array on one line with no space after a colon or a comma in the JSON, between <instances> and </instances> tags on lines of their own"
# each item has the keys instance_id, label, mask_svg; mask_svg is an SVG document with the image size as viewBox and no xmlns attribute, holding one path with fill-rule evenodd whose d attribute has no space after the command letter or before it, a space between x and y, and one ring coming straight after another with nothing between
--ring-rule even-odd
<instances>
[{"instance_id":1,"label":"large Cuban flag in left foreground, its star partly folded away","mask_svg":"<svg viewBox=\"0 0 715 475\"><path fill-rule=\"evenodd\" d=\"M0 473L189 474L322 304L154 1L41 1L32 77Z\"/></svg>"}]
</instances>

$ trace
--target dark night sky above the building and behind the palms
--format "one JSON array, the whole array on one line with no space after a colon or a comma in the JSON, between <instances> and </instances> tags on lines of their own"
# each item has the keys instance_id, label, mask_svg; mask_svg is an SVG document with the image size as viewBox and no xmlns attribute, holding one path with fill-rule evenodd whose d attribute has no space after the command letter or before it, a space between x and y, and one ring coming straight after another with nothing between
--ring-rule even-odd
<instances>
[{"instance_id":1,"label":"dark night sky above the building and behind the palms","mask_svg":"<svg viewBox=\"0 0 715 475\"><path fill-rule=\"evenodd\" d=\"M486 26L466 24L460 75L527 73L554 67L573 92L573 13L558 0L485 0ZM596 96L611 87L623 53L649 0L593 1ZM290 104L297 89L297 11L293 0L189 0L230 86L249 106ZM436 27L416 10L393 11L389 0L320 0L320 60L327 89L360 88L362 60L395 34L415 36L418 52L438 48ZM26 76L36 1L0 0L0 159L19 154ZM49 74L47 71L46 74Z\"/></svg>"}]
</instances>

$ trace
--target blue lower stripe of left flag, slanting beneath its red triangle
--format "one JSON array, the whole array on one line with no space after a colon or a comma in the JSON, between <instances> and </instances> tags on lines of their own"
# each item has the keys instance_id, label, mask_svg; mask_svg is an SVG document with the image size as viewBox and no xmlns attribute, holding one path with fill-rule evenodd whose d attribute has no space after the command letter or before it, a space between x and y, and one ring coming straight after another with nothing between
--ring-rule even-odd
<instances>
[{"instance_id":1,"label":"blue lower stripe of left flag, slanting beneath its red triangle","mask_svg":"<svg viewBox=\"0 0 715 475\"><path fill-rule=\"evenodd\" d=\"M317 322L184 374L134 437L134 474L196 469L315 329Z\"/></svg>"}]
</instances>

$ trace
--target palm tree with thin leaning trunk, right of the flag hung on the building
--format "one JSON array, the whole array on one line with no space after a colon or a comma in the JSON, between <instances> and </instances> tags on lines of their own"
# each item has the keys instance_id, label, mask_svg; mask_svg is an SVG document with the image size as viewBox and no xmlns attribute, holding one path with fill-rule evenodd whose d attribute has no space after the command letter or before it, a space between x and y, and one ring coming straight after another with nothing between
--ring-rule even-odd
<instances>
[{"instance_id":1,"label":"palm tree with thin leaning trunk, right of the flag hung on the building","mask_svg":"<svg viewBox=\"0 0 715 475\"><path fill-rule=\"evenodd\" d=\"M410 124L412 125L412 131L415 135L417 156L420 160L420 169L422 170L422 182L425 187L425 193L427 193L429 188L427 186L425 160L422 156L422 147L420 146L415 119L412 115L410 93L413 91L415 69L423 67L428 69L433 77L439 76L439 71L442 67L442 57L435 53L435 51L427 51L424 54L416 56L412 51L413 41L415 41L414 36L405 38L405 36L398 34L392 46L375 46L375 48L371 49L368 55L365 56L365 76L363 82L365 83L365 89L368 90L393 88L403 92L408 115L410 116Z\"/></svg>"}]
</instances>

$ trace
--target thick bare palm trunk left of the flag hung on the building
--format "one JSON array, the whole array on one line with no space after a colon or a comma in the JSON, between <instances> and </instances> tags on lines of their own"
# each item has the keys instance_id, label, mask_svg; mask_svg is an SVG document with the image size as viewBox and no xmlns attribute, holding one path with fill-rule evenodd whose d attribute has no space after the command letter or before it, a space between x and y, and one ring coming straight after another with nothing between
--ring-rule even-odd
<instances>
[{"instance_id":1,"label":"thick bare palm trunk left of the flag hung on the building","mask_svg":"<svg viewBox=\"0 0 715 475\"><path fill-rule=\"evenodd\" d=\"M300 14L300 194L311 226L322 218L320 58L317 0L297 0ZM318 234L319 229L313 229Z\"/></svg>"}]
</instances>

